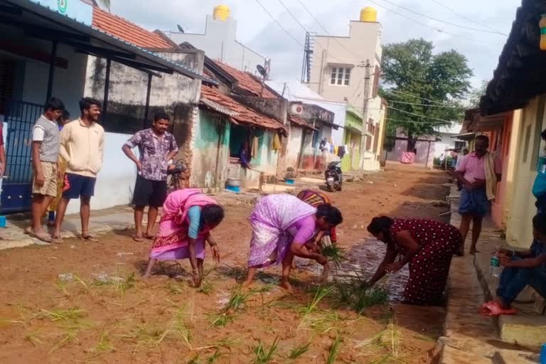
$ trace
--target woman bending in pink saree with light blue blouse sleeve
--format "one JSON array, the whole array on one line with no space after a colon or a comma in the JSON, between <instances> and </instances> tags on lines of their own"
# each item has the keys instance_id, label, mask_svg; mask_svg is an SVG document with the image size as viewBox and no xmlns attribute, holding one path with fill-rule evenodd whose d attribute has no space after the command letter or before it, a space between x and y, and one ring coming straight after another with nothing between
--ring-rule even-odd
<instances>
[{"instance_id":1,"label":"woman bending in pink saree with light blue blouse sleeve","mask_svg":"<svg viewBox=\"0 0 546 364\"><path fill-rule=\"evenodd\" d=\"M190 259L193 282L199 286L203 278L205 241L209 243L215 261L220 261L218 245L210 236L210 230L223 218L223 208L196 188L169 194L163 205L159 234L151 247L144 277L150 276L157 260Z\"/></svg>"}]
</instances>

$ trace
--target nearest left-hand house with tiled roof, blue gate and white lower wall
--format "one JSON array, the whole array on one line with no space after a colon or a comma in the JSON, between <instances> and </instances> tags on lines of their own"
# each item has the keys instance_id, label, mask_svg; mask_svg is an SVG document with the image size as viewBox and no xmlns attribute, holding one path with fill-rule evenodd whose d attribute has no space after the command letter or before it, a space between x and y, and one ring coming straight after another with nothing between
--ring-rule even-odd
<instances>
[{"instance_id":1,"label":"nearest left-hand house with tiled roof, blue gate and white lower wall","mask_svg":"<svg viewBox=\"0 0 546 364\"><path fill-rule=\"evenodd\" d=\"M149 101L155 102L159 97L159 92L152 93L155 80L150 80L167 82L167 77L172 76L181 80L184 87L193 85L193 90L199 90L196 85L205 77L193 69L198 60L188 66L169 59L169 55L152 52L151 48L168 48L170 43L87 2L0 2L1 15L6 18L0 27L4 34L10 35L0 44L0 68L4 68L4 75L12 77L0 85L9 176L1 195L2 210L10 212L30 207L29 140L33 124L50 96L63 100L73 118L80 114L78 102L82 97L96 97L105 105L105 119L101 121L107 132L105 163L97 178L92 208L129 203L137 171L123 156L121 146L138 129L134 123L144 127L146 117L142 113L146 109L150 112ZM97 75L100 77L95 80ZM119 77L128 77L130 85L119 83ZM93 85L91 80L95 82ZM139 100L139 117L134 117L134 107L126 112L117 111L119 105L130 104L125 102L127 97ZM188 100L196 100L196 95ZM112 114L108 112L108 105ZM123 115L134 129L127 132L119 129L124 122L116 120ZM108 124L109 116L112 124ZM71 203L68 212L76 212L78 204L77 201Z\"/></svg>"}]
</instances>

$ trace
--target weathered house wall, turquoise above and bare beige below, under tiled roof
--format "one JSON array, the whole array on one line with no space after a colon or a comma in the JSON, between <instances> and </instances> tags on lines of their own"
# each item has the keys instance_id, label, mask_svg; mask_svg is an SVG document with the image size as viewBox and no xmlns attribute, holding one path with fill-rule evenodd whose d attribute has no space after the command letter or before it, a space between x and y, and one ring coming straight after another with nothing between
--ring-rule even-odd
<instances>
[{"instance_id":1,"label":"weathered house wall, turquoise above and bare beige below, under tiled roof","mask_svg":"<svg viewBox=\"0 0 546 364\"><path fill-rule=\"evenodd\" d=\"M222 115L199 109L191 187L220 190L228 178L231 124Z\"/></svg>"}]
</instances>

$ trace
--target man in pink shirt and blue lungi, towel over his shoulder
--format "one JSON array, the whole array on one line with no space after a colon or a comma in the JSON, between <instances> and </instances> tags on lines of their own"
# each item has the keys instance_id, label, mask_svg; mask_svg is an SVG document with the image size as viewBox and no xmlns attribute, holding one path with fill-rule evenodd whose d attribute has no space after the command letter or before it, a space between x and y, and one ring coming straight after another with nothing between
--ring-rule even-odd
<instances>
[{"instance_id":1,"label":"man in pink shirt and blue lungi, towel over his shoulder","mask_svg":"<svg viewBox=\"0 0 546 364\"><path fill-rule=\"evenodd\" d=\"M464 255L464 242L472 223L472 245L470 252L476 254L476 244L481 234L483 218L491 210L491 200L495 198L496 183L501 181L501 162L487 149L489 138L478 135L474 151L465 156L455 172L457 181L462 183L459 213L462 215L461 234L463 244L459 250Z\"/></svg>"}]
</instances>

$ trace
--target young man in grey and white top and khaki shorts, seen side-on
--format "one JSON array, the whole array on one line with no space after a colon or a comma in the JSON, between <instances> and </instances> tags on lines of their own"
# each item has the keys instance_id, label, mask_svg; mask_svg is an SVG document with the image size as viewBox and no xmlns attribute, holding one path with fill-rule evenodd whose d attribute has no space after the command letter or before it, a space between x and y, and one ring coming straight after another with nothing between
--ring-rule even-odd
<instances>
[{"instance_id":1,"label":"young man in grey and white top and khaki shorts, seen side-on","mask_svg":"<svg viewBox=\"0 0 546 364\"><path fill-rule=\"evenodd\" d=\"M31 235L51 242L50 235L42 228L42 216L49 203L57 196L59 128L57 119L63 114L65 105L51 97L43 107L44 113L36 120L32 133L32 226Z\"/></svg>"}]
</instances>

